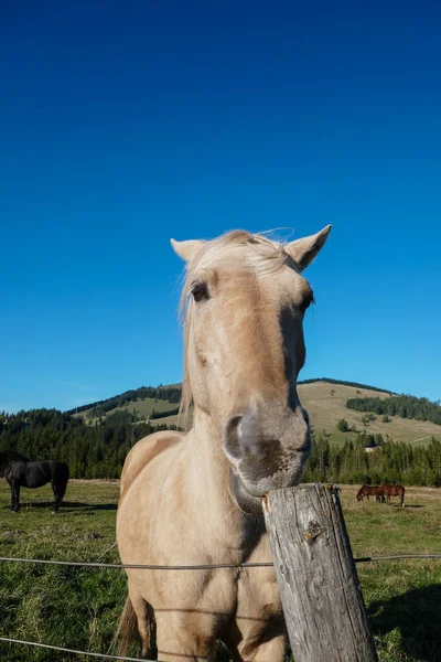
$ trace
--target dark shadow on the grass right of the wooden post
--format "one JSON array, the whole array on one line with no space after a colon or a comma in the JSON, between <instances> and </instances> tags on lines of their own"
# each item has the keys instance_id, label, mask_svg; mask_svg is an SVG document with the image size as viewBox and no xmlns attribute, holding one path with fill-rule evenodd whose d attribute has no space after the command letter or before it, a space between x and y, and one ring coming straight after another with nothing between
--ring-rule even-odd
<instances>
[{"instance_id":1,"label":"dark shadow on the grass right of the wooden post","mask_svg":"<svg viewBox=\"0 0 441 662\"><path fill-rule=\"evenodd\" d=\"M420 662L441 662L441 585L416 588L368 609L373 634L398 629L402 651Z\"/></svg>"}]
</instances>

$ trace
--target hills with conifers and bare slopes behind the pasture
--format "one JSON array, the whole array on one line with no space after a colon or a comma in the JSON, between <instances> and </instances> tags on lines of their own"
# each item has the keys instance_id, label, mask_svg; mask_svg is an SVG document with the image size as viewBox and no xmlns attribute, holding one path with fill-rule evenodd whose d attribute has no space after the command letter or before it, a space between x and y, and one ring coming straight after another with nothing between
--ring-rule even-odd
<instances>
[{"instance_id":1,"label":"hills with conifers and bare slopes behind the pasture","mask_svg":"<svg viewBox=\"0 0 441 662\"><path fill-rule=\"evenodd\" d=\"M305 480L441 485L439 404L329 380L308 381L299 394L314 435ZM0 450L65 460L73 478L118 478L138 439L175 429L180 395L179 385L149 386L93 403L79 413L3 413ZM412 445L402 442L409 439Z\"/></svg>"}]
</instances>

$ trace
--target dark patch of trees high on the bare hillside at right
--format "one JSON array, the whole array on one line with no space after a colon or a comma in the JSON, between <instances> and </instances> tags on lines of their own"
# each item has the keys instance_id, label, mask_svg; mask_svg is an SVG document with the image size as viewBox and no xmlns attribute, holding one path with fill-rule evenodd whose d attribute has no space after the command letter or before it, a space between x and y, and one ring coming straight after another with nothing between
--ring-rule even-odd
<instances>
[{"instance_id":1,"label":"dark patch of trees high on the bare hillside at right","mask_svg":"<svg viewBox=\"0 0 441 662\"><path fill-rule=\"evenodd\" d=\"M392 395L391 397L351 398L346 407L356 412L372 412L378 415L400 416L415 420L430 420L441 425L440 403L432 403L427 397L413 395Z\"/></svg>"}]
</instances>

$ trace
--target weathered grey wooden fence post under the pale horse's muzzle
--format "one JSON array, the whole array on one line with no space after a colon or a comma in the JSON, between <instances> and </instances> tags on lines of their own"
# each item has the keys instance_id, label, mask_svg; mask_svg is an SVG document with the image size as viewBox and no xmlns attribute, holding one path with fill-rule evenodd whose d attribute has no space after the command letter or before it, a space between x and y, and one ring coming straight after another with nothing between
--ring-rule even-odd
<instances>
[{"instance_id":1,"label":"weathered grey wooden fence post under the pale horse's muzzle","mask_svg":"<svg viewBox=\"0 0 441 662\"><path fill-rule=\"evenodd\" d=\"M376 662L337 489L273 490L263 513L294 661Z\"/></svg>"}]
</instances>

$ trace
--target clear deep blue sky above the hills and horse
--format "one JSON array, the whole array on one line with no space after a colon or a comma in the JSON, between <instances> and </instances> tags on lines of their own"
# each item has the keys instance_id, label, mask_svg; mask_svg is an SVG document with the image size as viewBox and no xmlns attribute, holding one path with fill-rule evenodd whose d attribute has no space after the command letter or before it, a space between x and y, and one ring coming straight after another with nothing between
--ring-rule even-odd
<instances>
[{"instance_id":1,"label":"clear deep blue sky above the hills and horse","mask_svg":"<svg viewBox=\"0 0 441 662\"><path fill-rule=\"evenodd\" d=\"M170 237L327 223L301 378L440 398L440 33L432 1L1 3L0 410L180 381Z\"/></svg>"}]
</instances>

